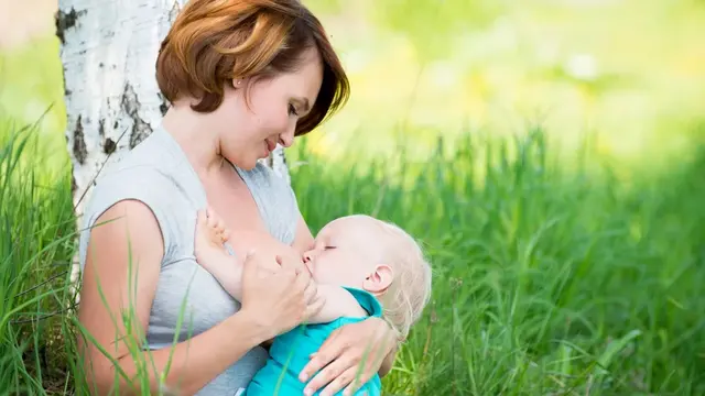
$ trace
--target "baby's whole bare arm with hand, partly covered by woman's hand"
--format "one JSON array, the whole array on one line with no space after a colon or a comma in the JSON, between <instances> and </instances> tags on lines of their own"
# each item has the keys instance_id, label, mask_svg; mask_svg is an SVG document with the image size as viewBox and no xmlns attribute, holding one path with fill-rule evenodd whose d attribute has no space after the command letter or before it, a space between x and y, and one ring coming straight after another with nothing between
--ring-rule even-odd
<instances>
[{"instance_id":1,"label":"baby's whole bare arm with hand, partly covered by woman's hand","mask_svg":"<svg viewBox=\"0 0 705 396\"><path fill-rule=\"evenodd\" d=\"M195 239L196 261L218 280L232 298L241 300L242 265L237 257L226 253L223 246L229 238L228 234L229 232L215 212L209 210L207 216L199 212ZM264 250L276 251L275 248L267 246ZM290 252L281 253L281 256L296 260ZM316 288L318 295L325 299L325 304L321 311L310 319L310 323L326 323L344 316L367 316L355 297L343 287L318 284Z\"/></svg>"}]
</instances>

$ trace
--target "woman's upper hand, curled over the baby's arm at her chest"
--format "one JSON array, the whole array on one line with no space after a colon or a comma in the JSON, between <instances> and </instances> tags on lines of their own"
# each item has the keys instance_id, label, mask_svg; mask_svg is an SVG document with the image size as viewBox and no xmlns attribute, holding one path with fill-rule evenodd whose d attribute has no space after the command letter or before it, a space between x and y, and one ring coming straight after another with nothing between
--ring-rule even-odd
<instances>
[{"instance_id":1,"label":"woman's upper hand, curled over the baby's arm at her chest","mask_svg":"<svg viewBox=\"0 0 705 396\"><path fill-rule=\"evenodd\" d=\"M242 263L241 311L261 329L268 329L270 338L316 315L325 302L307 271L279 257L276 262L280 266L248 253Z\"/></svg>"}]
</instances>

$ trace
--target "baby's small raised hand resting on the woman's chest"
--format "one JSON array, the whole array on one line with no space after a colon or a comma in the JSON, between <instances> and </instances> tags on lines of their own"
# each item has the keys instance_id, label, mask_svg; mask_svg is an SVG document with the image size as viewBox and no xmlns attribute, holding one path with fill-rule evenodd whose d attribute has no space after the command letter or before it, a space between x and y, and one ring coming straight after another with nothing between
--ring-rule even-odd
<instances>
[{"instance_id":1,"label":"baby's small raised hand resting on the woman's chest","mask_svg":"<svg viewBox=\"0 0 705 396\"><path fill-rule=\"evenodd\" d=\"M230 231L218 215L210 208L199 210L196 221L196 235L194 253L196 262L208 268L219 265L223 261L231 261L232 257L225 251L223 244L230 238Z\"/></svg>"}]
</instances>

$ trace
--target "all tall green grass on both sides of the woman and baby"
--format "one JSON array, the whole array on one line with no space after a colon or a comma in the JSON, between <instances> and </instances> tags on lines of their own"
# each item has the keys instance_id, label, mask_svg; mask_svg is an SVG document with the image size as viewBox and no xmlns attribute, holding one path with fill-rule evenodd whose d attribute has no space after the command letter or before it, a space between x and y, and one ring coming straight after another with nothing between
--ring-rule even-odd
<instances>
[{"instance_id":1,"label":"all tall green grass on both sides of the woman and baby","mask_svg":"<svg viewBox=\"0 0 705 396\"><path fill-rule=\"evenodd\" d=\"M65 310L69 175L21 165L33 134L17 131L0 134L0 393L65 394L82 376ZM705 393L705 152L626 184L589 150L565 170L542 131L528 136L358 169L297 146L308 161L294 189L314 232L371 213L419 238L433 264L432 305L388 394Z\"/></svg>"}]
</instances>

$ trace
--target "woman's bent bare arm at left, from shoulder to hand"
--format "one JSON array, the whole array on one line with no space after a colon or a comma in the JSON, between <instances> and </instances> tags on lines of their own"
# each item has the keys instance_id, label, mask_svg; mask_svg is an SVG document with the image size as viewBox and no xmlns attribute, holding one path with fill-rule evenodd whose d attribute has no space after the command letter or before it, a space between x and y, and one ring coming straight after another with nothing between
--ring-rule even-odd
<instances>
[{"instance_id":1,"label":"woman's bent bare arm at left, from shoulder to hand","mask_svg":"<svg viewBox=\"0 0 705 396\"><path fill-rule=\"evenodd\" d=\"M112 219L117 220L100 224ZM133 200L115 205L97 223L88 245L78 311L80 323L95 341L83 342L85 338L79 337L78 344L88 385L98 394L113 392L116 375L120 394L129 394L128 389L141 394L148 388L149 393L159 393L166 367L166 388L194 394L251 348L276 331L297 324L302 312L303 317L311 315L304 297L305 276L291 271L253 274L254 264L248 262L249 275L243 275L245 296L238 314L173 349L143 352L134 334L147 333L164 254L159 226L151 210ZM249 282L248 277L253 276L264 278ZM122 319L128 309L134 314L131 321ZM144 382L138 373L141 377L147 374L149 380Z\"/></svg>"}]
</instances>

